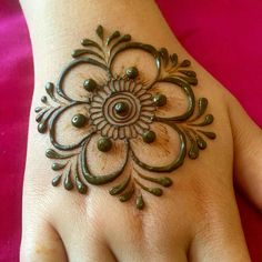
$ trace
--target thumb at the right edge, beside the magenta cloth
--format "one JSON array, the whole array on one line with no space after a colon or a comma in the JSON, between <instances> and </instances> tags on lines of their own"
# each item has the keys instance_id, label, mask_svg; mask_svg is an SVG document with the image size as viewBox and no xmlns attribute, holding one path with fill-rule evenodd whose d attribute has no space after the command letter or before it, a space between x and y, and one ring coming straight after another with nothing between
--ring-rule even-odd
<instances>
[{"instance_id":1,"label":"thumb at the right edge, beside the magenta cloth","mask_svg":"<svg viewBox=\"0 0 262 262\"><path fill-rule=\"evenodd\" d=\"M235 182L262 211L262 131L236 99L230 101Z\"/></svg>"}]
</instances>

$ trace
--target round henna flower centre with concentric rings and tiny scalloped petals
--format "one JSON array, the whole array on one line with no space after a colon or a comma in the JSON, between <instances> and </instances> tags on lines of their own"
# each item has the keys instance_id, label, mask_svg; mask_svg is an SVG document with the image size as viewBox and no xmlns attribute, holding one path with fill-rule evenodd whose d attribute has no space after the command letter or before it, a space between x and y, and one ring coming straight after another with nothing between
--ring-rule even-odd
<instances>
[{"instance_id":1,"label":"round henna flower centre with concentric rings and tiny scalloped petals","mask_svg":"<svg viewBox=\"0 0 262 262\"><path fill-rule=\"evenodd\" d=\"M150 129L155 105L152 94L132 79L112 79L92 97L92 124L103 137L135 138Z\"/></svg>"}]
</instances>

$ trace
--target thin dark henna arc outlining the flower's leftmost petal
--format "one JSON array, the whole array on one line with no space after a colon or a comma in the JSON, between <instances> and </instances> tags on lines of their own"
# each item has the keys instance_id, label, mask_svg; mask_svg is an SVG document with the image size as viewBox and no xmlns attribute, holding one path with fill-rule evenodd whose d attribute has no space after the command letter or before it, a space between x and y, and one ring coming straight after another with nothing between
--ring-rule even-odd
<instances>
[{"instance_id":1,"label":"thin dark henna arc outlining the flower's leftmost petal","mask_svg":"<svg viewBox=\"0 0 262 262\"><path fill-rule=\"evenodd\" d=\"M74 105L79 105L79 104L83 104L83 103L87 103L87 102L74 102L74 103L71 103L67 107L63 107L61 109L59 109L53 115L52 118L50 119L49 121L49 137L50 137L50 142L52 143L52 145L58 149L58 150L62 150L62 151L70 151L70 150L74 150L79 147L82 145L82 143L94 132L94 130L90 130L90 132L88 132L88 134L78 143L75 144L70 144L70 145L63 145L63 144L60 144L57 139L56 139L56 130L54 130L54 127L56 127L56 123L58 121L58 118L61 113L63 113L64 111L67 111L68 109L74 107Z\"/></svg>"}]
</instances>

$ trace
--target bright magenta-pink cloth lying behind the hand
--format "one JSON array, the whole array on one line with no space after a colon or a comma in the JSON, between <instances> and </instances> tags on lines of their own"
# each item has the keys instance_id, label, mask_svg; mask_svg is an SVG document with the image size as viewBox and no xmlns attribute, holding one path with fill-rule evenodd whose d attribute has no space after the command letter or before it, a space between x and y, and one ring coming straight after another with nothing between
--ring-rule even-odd
<instances>
[{"instance_id":1,"label":"bright magenta-pink cloth lying behind the hand","mask_svg":"<svg viewBox=\"0 0 262 262\"><path fill-rule=\"evenodd\" d=\"M158 0L189 52L216 77L262 127L262 1ZM0 262L19 260L21 192L32 53L16 0L0 0ZM261 215L238 194L254 262L262 261Z\"/></svg>"}]
</instances>

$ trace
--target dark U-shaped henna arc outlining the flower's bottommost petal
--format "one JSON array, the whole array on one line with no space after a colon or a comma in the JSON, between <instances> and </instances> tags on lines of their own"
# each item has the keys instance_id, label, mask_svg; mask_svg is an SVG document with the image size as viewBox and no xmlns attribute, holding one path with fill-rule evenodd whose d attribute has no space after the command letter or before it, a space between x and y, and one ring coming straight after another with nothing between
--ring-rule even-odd
<instances>
[{"instance_id":1,"label":"dark U-shaped henna arc outlining the flower's bottommost petal","mask_svg":"<svg viewBox=\"0 0 262 262\"><path fill-rule=\"evenodd\" d=\"M113 180L115 180L124 170L125 168L125 164L128 162L128 159L129 159L129 143L127 142L127 140L124 141L125 142L125 159L124 159L124 162L122 164L122 167L117 170L115 172L112 172L110 174L104 174L104 175L94 175L90 169L88 168L88 164L87 164L87 147L91 140L92 135L90 135L90 138L88 138L88 140L84 142L82 149L81 149L81 152L80 152L80 162L81 162L81 168L82 168L82 174L83 174L83 178L87 180L88 183L90 184L94 184L94 185L100 185L100 184L105 184L105 183L109 183L109 182L112 182Z\"/></svg>"}]
</instances>

